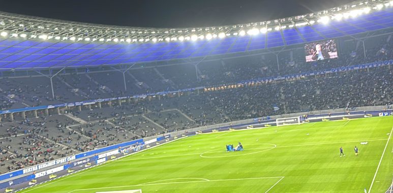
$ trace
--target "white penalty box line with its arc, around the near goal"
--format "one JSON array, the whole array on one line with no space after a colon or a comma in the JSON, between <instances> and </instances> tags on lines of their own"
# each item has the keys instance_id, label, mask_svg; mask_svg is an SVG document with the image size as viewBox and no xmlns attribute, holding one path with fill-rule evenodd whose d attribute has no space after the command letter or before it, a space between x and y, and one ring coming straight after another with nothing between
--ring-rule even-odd
<instances>
[{"instance_id":1,"label":"white penalty box line with its arc, around the near goal","mask_svg":"<svg viewBox=\"0 0 393 193\"><path fill-rule=\"evenodd\" d=\"M282 179L284 179L285 176L276 176L276 177L257 177L257 178L235 178L235 179L218 179L218 180L209 180L209 179L204 179L204 178L195 178L195 179L200 179L200 181L183 181L183 182L162 182L162 183L142 183L142 184L137 184L137 185L124 185L124 186L111 186L111 187L97 187L97 188L84 188L84 189L74 189L72 191L69 191L68 193L76 192L76 191L84 191L84 190L97 190L97 189L108 189L108 188L122 188L122 187L134 187L134 186L151 186L151 185L166 185L166 184L183 184L183 183L200 183L200 182L220 182L220 181L239 181L239 180L255 180L255 179L273 179L273 178L280 178L275 184L269 187L265 191L268 192L270 191L274 186L276 186ZM183 179L183 178L174 178L174 179L168 179L168 180L176 180L176 179ZM185 178L185 179L191 179L191 178ZM194 179L194 178L193 178ZM168 180L159 180L159 181L168 181ZM156 181L156 182L159 182Z\"/></svg>"}]
</instances>

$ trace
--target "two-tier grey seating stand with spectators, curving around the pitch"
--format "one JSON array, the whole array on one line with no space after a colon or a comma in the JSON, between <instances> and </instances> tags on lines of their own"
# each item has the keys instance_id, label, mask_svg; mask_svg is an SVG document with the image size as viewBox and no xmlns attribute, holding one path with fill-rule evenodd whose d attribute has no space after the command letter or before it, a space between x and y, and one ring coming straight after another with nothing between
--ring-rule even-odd
<instances>
[{"instance_id":1,"label":"two-tier grey seating stand with spectators, curving around the pitch","mask_svg":"<svg viewBox=\"0 0 393 193\"><path fill-rule=\"evenodd\" d=\"M385 32L380 31L381 34ZM43 76L41 72L23 76L12 74L0 78L0 109L123 97L197 86L215 87L256 78L382 61L393 58L393 42L390 38L391 34L368 38L365 40L366 50L358 46L356 41L342 39L339 58L310 63L304 61L304 45L301 45L301 48L280 51L280 57L277 57L279 63L276 62L276 54L245 53L235 57L216 56L215 59L200 63L135 67L127 72L114 68L91 72L64 71L52 78L54 98L50 88L51 78ZM214 41L206 44L214 44ZM228 46L227 43L222 45ZM366 57L362 55L364 52ZM202 52L196 55L198 53ZM2 115L0 172L44 163L75 152L198 126L294 112L391 105L391 82L393 69L386 66L242 84L236 88L215 91L157 95L121 105L113 101L103 103L102 106L95 104L80 109L68 108L61 113L39 111L37 115L27 113L25 117L15 114L13 120Z\"/></svg>"}]
</instances>

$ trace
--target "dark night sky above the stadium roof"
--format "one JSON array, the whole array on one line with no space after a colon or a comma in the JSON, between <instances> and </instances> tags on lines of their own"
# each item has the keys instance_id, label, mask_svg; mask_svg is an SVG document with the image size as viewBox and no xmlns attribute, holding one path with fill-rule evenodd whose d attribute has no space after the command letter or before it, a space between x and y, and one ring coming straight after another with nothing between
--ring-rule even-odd
<instances>
[{"instance_id":1,"label":"dark night sky above the stadium roof","mask_svg":"<svg viewBox=\"0 0 393 193\"><path fill-rule=\"evenodd\" d=\"M320 11L353 0L0 0L0 11L110 25L200 27Z\"/></svg>"}]
</instances>

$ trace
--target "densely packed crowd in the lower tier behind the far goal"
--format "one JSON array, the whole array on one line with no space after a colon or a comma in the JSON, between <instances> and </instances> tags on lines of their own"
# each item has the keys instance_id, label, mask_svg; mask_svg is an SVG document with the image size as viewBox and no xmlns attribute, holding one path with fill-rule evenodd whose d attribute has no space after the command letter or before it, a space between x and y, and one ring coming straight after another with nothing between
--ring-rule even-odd
<instances>
[{"instance_id":1,"label":"densely packed crowd in the lower tier behind the far goal","mask_svg":"<svg viewBox=\"0 0 393 193\"><path fill-rule=\"evenodd\" d=\"M367 71L367 70L364 70ZM347 107L391 105L393 70L337 73L204 93L230 120ZM274 106L279 110L274 110Z\"/></svg>"}]
</instances>

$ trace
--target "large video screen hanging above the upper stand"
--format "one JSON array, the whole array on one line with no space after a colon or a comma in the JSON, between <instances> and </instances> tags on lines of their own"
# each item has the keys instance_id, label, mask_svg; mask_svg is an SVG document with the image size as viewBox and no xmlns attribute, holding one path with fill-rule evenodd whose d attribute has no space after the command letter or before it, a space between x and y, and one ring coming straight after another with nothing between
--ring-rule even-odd
<instances>
[{"instance_id":1,"label":"large video screen hanging above the upper stand","mask_svg":"<svg viewBox=\"0 0 393 193\"><path fill-rule=\"evenodd\" d=\"M335 40L326 40L306 44L306 62L337 58L337 45Z\"/></svg>"}]
</instances>

